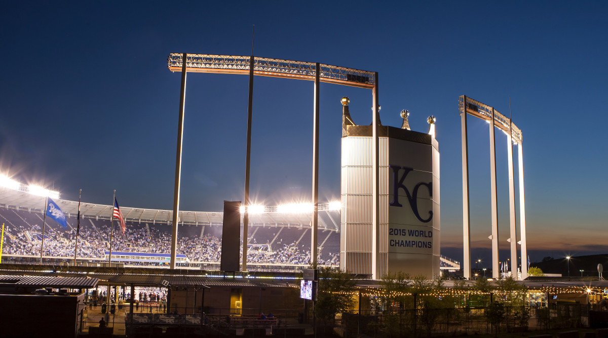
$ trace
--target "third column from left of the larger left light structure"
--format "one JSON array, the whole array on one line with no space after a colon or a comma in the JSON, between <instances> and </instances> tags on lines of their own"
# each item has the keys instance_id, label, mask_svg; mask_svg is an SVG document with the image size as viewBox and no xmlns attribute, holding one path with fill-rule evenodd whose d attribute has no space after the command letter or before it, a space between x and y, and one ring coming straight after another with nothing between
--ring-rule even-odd
<instances>
[{"instance_id":1,"label":"third column from left of the larger left light structure","mask_svg":"<svg viewBox=\"0 0 608 338\"><path fill-rule=\"evenodd\" d=\"M311 222L310 260L311 265L317 264L317 232L319 231L319 86L321 66L315 64L314 74L314 106L313 106L313 221Z\"/></svg>"}]
</instances>

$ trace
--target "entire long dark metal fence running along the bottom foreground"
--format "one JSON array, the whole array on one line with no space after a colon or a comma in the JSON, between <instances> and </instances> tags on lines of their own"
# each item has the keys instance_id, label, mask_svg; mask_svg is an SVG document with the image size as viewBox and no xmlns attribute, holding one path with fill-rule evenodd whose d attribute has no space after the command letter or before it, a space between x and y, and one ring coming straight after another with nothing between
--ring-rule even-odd
<instances>
[{"instance_id":1,"label":"entire long dark metal fence running along the bottom foreground","mask_svg":"<svg viewBox=\"0 0 608 338\"><path fill-rule=\"evenodd\" d=\"M79 331L89 334L115 334L135 337L185 337L241 335L257 337L300 336L329 333L337 327L345 336L366 334L371 337L462 336L465 334L517 333L563 328L589 327L590 305L551 304L547 307L506 306L503 315L492 321L488 306L477 308L418 308L393 311L350 311L333 320L322 320L323 309L220 309L181 308L184 313L167 311L157 303L89 306L82 305ZM262 317L261 314L265 317ZM272 315L271 315L272 314ZM103 322L100 323L103 319ZM100 328L105 326L105 328Z\"/></svg>"}]
</instances>

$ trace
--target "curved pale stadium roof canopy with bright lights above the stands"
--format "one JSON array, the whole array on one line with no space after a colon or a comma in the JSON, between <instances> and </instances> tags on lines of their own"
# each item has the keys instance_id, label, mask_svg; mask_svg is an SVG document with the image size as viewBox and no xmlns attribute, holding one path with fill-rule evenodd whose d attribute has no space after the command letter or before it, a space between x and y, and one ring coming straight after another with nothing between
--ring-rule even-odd
<instances>
[{"instance_id":1,"label":"curved pale stadium roof canopy with bright lights above the stands","mask_svg":"<svg viewBox=\"0 0 608 338\"><path fill-rule=\"evenodd\" d=\"M76 217L78 214L78 201L55 200L55 202L69 217ZM44 197L0 187L0 208L42 212L44 208ZM120 206L120 210L122 211L126 221L134 221L138 223L144 221L170 224L173 218L173 211L171 210L130 208L127 206ZM273 207L266 208L266 211L270 212L250 212L249 222L254 225L310 225L311 223L311 212L279 212L277 208ZM83 217L107 220L111 217L112 206L83 202L80 206L80 214L83 215ZM221 225L223 223L223 219L223 212L179 212L179 221L182 224ZM68 223L70 223L69 220ZM323 210L320 208L319 227L339 230L340 211Z\"/></svg>"}]
</instances>

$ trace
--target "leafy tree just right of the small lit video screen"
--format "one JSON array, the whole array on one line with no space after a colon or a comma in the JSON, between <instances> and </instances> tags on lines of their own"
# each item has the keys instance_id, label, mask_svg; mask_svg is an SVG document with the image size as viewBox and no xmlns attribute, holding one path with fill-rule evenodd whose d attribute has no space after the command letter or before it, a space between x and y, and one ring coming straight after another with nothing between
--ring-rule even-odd
<instances>
[{"instance_id":1,"label":"leafy tree just right of the small lit video screen","mask_svg":"<svg viewBox=\"0 0 608 338\"><path fill-rule=\"evenodd\" d=\"M351 309L354 305L353 291L355 281L350 272L325 266L319 269L319 284L317 286L317 318L334 322L337 313Z\"/></svg>"}]
</instances>

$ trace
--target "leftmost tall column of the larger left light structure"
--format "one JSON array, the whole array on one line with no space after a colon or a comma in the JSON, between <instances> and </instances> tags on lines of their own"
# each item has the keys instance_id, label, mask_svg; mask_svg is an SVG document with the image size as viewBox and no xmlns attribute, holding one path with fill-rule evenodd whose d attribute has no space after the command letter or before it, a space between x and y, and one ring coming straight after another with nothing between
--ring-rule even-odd
<instances>
[{"instance_id":1,"label":"leftmost tall column of the larger left light structure","mask_svg":"<svg viewBox=\"0 0 608 338\"><path fill-rule=\"evenodd\" d=\"M186 101L186 58L182 55L182 86L179 91L179 122L178 148L175 154L175 188L173 191L173 229L171 229L171 261L170 268L175 268L175 255L178 251L178 220L179 220L179 183L182 175L182 134L184 133L184 108Z\"/></svg>"}]
</instances>

